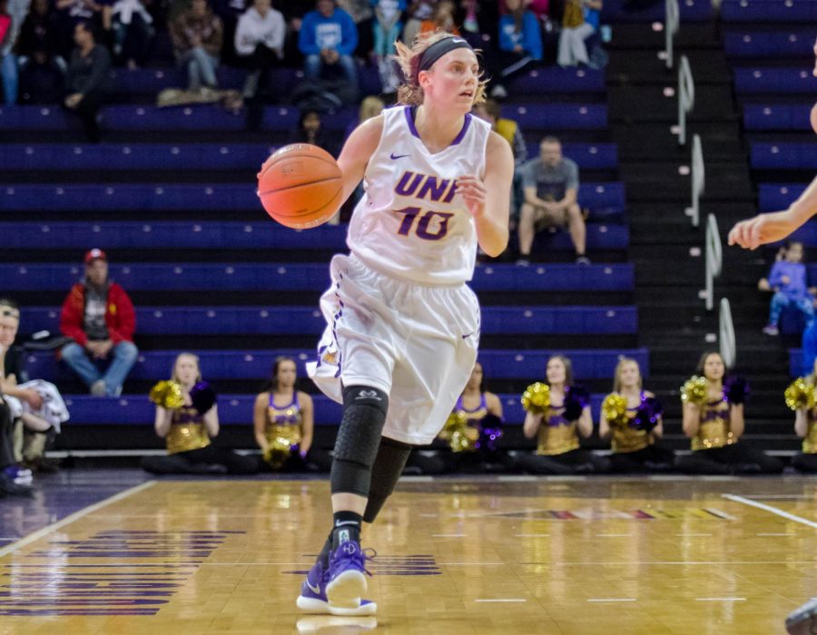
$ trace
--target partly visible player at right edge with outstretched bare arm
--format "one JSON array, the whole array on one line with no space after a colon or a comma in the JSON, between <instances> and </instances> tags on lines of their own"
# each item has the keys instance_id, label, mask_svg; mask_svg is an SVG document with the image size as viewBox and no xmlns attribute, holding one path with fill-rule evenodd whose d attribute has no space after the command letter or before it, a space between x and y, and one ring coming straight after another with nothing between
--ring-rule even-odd
<instances>
[{"instance_id":1,"label":"partly visible player at right edge with outstretched bare arm","mask_svg":"<svg viewBox=\"0 0 817 635\"><path fill-rule=\"evenodd\" d=\"M817 42L814 43L814 55L817 58ZM817 62L812 74L817 77ZM812 108L812 129L817 132L817 103ZM817 177L788 210L758 214L753 219L737 223L729 232L729 244L757 249L761 245L783 240L814 214L817 214ZM786 620L786 630L792 635L817 632L817 600L807 601L793 611Z\"/></svg>"}]
</instances>

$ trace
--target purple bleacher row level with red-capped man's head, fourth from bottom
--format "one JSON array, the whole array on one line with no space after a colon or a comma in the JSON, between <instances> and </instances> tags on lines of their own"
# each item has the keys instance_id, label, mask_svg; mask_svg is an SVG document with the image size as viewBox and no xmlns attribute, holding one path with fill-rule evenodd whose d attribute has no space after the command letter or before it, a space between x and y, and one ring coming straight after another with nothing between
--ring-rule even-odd
<instances>
[{"instance_id":1,"label":"purple bleacher row level with red-capped man's head, fourth from bottom","mask_svg":"<svg viewBox=\"0 0 817 635\"><path fill-rule=\"evenodd\" d=\"M161 264L111 265L111 278L128 290L323 290L329 265ZM0 265L5 291L64 290L84 275L79 265ZM477 291L629 291L632 264L479 266L471 286Z\"/></svg>"}]
</instances>

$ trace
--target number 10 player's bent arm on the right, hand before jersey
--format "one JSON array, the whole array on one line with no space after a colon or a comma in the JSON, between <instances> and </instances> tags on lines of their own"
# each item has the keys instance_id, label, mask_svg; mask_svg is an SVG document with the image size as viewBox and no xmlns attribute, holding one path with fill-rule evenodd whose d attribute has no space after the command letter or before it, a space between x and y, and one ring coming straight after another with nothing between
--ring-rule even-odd
<instances>
[{"instance_id":1,"label":"number 10 player's bent arm on the right, hand before jersey","mask_svg":"<svg viewBox=\"0 0 817 635\"><path fill-rule=\"evenodd\" d=\"M496 132L487 140L485 178L464 174L457 179L457 193L465 200L477 224L479 247L491 258L507 248L510 189L514 178L514 155Z\"/></svg>"}]
</instances>

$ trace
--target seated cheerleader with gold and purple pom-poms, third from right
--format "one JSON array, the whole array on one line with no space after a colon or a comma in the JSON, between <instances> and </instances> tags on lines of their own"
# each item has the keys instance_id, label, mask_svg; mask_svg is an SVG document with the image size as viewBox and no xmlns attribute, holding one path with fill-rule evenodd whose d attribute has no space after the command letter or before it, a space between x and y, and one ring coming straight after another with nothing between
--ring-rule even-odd
<instances>
[{"instance_id":1,"label":"seated cheerleader with gold and purple pom-poms, third from right","mask_svg":"<svg viewBox=\"0 0 817 635\"><path fill-rule=\"evenodd\" d=\"M621 359L615 366L613 392L605 397L598 425L599 436L613 437L612 472L666 472L673 468L673 451L655 444L664 434L662 412L655 395L642 388L638 362Z\"/></svg>"}]
</instances>

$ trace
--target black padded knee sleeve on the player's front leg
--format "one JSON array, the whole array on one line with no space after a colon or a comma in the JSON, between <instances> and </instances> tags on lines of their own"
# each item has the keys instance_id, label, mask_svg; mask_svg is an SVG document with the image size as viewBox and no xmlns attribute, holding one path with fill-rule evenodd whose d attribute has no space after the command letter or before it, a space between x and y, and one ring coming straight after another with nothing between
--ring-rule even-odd
<instances>
[{"instance_id":1,"label":"black padded knee sleeve on the player's front leg","mask_svg":"<svg viewBox=\"0 0 817 635\"><path fill-rule=\"evenodd\" d=\"M335 441L332 493L369 496L371 466L386 423L389 396L369 386L343 388L343 419Z\"/></svg>"}]
</instances>

